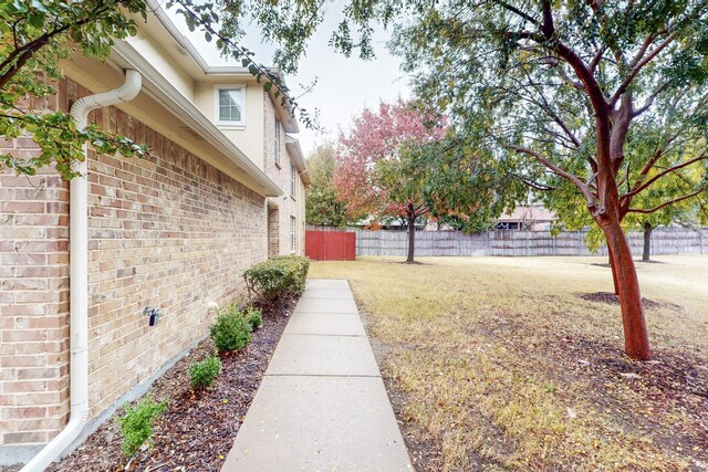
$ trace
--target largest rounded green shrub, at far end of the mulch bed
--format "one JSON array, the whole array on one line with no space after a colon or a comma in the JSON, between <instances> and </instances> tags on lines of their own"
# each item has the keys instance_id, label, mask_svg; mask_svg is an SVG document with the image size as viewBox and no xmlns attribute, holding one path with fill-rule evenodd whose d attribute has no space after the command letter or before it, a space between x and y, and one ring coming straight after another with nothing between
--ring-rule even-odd
<instances>
[{"instance_id":1,"label":"largest rounded green shrub, at far end of the mulch bed","mask_svg":"<svg viewBox=\"0 0 708 472\"><path fill-rule=\"evenodd\" d=\"M243 273L249 294L270 304L283 295L300 295L305 290L310 260L299 255L278 255L256 264Z\"/></svg>"}]
</instances>

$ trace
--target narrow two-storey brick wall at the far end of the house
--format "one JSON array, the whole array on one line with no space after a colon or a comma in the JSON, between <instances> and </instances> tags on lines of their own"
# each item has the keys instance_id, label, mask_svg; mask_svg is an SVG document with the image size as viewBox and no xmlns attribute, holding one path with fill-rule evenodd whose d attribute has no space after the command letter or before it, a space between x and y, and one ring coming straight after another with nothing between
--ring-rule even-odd
<instances>
[{"instance_id":1,"label":"narrow two-storey brick wall at the far end of the house","mask_svg":"<svg viewBox=\"0 0 708 472\"><path fill-rule=\"evenodd\" d=\"M263 133L266 151L264 157L264 172L283 190L283 195L273 199L272 201L278 206L279 213L279 248L280 254L290 254L290 227L291 217L295 217L296 243L295 252L303 254L301 242L303 241L304 233L302 232L303 224L303 211L304 209L304 191L302 190L302 181L300 177L295 178L295 195L290 195L290 156L285 148L285 133L280 128L280 162L275 164L274 159L274 128L275 128L275 111L273 108L273 102L267 93L263 93Z\"/></svg>"}]
</instances>

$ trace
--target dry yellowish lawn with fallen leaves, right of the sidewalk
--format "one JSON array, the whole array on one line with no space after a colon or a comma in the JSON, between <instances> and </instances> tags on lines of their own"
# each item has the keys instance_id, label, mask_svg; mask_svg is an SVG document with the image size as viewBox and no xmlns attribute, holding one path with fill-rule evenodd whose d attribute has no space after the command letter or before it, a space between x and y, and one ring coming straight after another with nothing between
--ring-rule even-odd
<instances>
[{"instance_id":1,"label":"dry yellowish lawn with fallen leaves, right of the sidewalk","mask_svg":"<svg viewBox=\"0 0 708 472\"><path fill-rule=\"evenodd\" d=\"M659 304L650 363L623 355L618 306L579 296L612 291L605 259L362 258L310 276L351 281L418 470L707 470L708 258L656 259L637 264Z\"/></svg>"}]
</instances>

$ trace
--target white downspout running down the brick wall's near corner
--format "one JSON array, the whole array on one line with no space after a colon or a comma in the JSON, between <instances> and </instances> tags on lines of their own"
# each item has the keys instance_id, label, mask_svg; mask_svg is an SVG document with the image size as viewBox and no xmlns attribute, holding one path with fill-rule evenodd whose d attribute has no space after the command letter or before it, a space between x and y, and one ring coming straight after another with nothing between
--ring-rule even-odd
<instances>
[{"instance_id":1,"label":"white downspout running down the brick wall's near corner","mask_svg":"<svg viewBox=\"0 0 708 472\"><path fill-rule=\"evenodd\" d=\"M103 106L128 102L140 92L142 76L125 71L125 83L115 90L77 99L70 114L79 129L87 125L88 113ZM69 195L70 262L70 395L71 416L64 429L50 441L20 472L41 472L56 460L81 434L88 418L88 154L84 144L84 160L73 162L80 176L71 179Z\"/></svg>"}]
</instances>

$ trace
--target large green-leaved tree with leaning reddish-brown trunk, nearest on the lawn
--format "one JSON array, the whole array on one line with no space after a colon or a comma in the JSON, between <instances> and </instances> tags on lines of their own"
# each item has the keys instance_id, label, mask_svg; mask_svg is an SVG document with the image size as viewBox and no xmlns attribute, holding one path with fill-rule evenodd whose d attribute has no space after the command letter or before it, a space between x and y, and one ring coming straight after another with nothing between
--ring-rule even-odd
<instances>
[{"instance_id":1,"label":"large green-leaved tree with leaning reddish-brown trunk, nearest on the lawn","mask_svg":"<svg viewBox=\"0 0 708 472\"><path fill-rule=\"evenodd\" d=\"M702 1L452 2L415 12L394 43L418 93L520 180L582 196L607 242L625 349L637 359L650 348L622 221L646 211L637 196L658 181L691 166L705 175L707 17ZM653 153L633 151L647 139ZM660 204L705 188L701 177Z\"/></svg>"}]
</instances>

